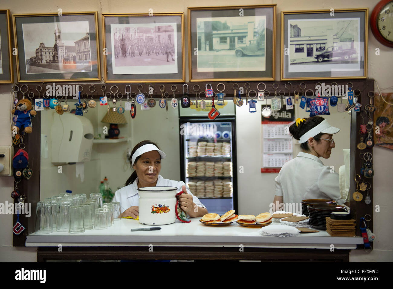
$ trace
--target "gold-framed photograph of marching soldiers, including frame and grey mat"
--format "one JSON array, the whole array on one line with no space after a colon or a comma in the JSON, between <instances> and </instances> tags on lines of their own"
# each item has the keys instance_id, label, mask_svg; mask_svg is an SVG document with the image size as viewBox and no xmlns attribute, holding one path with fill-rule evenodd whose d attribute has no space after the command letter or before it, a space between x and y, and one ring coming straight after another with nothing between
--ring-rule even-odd
<instances>
[{"instance_id":1,"label":"gold-framed photograph of marching soldiers, including frame and grey mat","mask_svg":"<svg viewBox=\"0 0 393 289\"><path fill-rule=\"evenodd\" d=\"M105 82L185 82L184 13L103 14Z\"/></svg>"}]
</instances>

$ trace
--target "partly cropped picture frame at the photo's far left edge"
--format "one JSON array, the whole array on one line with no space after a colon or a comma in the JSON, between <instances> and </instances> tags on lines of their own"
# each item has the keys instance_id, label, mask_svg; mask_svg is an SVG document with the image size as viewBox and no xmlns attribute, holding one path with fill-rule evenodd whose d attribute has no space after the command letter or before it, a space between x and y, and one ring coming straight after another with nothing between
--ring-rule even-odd
<instances>
[{"instance_id":1,"label":"partly cropped picture frame at the photo's far left edge","mask_svg":"<svg viewBox=\"0 0 393 289\"><path fill-rule=\"evenodd\" d=\"M13 83L9 10L0 10L0 83Z\"/></svg>"}]
</instances>

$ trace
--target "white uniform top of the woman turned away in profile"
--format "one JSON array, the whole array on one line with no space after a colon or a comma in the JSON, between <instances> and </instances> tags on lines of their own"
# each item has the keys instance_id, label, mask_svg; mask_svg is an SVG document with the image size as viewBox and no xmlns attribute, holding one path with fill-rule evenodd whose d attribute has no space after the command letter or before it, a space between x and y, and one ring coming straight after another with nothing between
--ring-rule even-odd
<instances>
[{"instance_id":1,"label":"white uniform top of the woman turned away in profile","mask_svg":"<svg viewBox=\"0 0 393 289\"><path fill-rule=\"evenodd\" d=\"M314 155L300 152L286 162L275 180L275 195L283 196L283 203L295 203L306 199L330 199L343 204L340 197L338 173Z\"/></svg>"}]
</instances>

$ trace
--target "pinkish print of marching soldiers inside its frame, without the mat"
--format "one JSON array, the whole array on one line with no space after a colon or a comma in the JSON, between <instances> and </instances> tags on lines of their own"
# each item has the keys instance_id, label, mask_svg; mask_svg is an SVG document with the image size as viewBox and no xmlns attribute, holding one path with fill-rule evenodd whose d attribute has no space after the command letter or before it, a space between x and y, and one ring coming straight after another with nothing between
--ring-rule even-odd
<instances>
[{"instance_id":1,"label":"pinkish print of marching soldiers inside its frame, without the mat","mask_svg":"<svg viewBox=\"0 0 393 289\"><path fill-rule=\"evenodd\" d=\"M176 24L112 24L111 34L113 74L177 73Z\"/></svg>"}]
</instances>

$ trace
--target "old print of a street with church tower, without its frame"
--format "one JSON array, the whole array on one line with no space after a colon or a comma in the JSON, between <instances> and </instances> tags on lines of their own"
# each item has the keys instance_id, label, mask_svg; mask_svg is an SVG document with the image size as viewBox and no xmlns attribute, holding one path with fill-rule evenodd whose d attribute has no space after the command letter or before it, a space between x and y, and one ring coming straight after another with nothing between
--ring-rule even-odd
<instances>
[{"instance_id":1,"label":"old print of a street with church tower, without its frame","mask_svg":"<svg viewBox=\"0 0 393 289\"><path fill-rule=\"evenodd\" d=\"M88 21L29 23L22 28L26 73L92 71Z\"/></svg>"}]
</instances>

